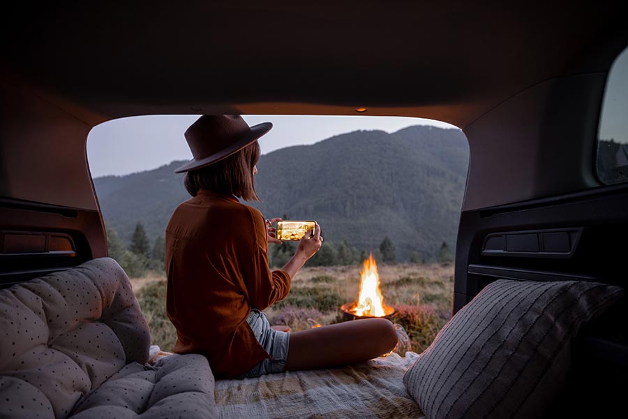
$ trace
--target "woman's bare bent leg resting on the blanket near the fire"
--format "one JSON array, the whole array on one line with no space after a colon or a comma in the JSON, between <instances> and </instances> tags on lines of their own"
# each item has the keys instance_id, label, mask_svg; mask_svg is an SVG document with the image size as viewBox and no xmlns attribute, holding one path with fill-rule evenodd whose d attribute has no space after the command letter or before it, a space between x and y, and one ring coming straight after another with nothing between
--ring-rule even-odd
<instances>
[{"instance_id":1,"label":"woman's bare bent leg resting on the blanket near the fire","mask_svg":"<svg viewBox=\"0 0 628 419\"><path fill-rule=\"evenodd\" d=\"M396 344L397 332L385 318L292 332L285 369L319 369L366 361L392 351Z\"/></svg>"}]
</instances>

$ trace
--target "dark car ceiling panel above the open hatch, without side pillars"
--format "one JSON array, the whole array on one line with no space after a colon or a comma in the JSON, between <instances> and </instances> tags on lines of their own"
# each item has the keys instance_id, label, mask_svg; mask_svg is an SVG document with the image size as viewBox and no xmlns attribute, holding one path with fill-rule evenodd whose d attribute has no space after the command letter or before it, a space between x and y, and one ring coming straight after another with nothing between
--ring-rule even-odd
<instances>
[{"instance_id":1,"label":"dark car ceiling panel above the open hatch, without side pillars","mask_svg":"<svg viewBox=\"0 0 628 419\"><path fill-rule=\"evenodd\" d=\"M94 122L144 114L405 115L464 128L553 78L605 72L620 3L15 5L5 77Z\"/></svg>"}]
</instances>

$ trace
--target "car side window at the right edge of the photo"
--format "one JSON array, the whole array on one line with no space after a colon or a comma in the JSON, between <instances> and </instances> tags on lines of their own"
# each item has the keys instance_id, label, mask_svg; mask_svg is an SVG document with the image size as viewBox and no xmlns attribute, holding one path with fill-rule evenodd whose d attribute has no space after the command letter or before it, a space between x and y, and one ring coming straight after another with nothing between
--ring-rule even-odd
<instances>
[{"instance_id":1,"label":"car side window at the right edge of the photo","mask_svg":"<svg viewBox=\"0 0 628 419\"><path fill-rule=\"evenodd\" d=\"M606 80L597 133L597 175L604 184L628 181L628 48Z\"/></svg>"}]
</instances>

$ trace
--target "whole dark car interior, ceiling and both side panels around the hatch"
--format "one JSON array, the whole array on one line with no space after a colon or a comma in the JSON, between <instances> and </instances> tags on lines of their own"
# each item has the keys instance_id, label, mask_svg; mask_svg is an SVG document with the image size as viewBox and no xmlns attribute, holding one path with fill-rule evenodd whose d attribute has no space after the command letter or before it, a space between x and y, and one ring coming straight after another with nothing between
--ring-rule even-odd
<instances>
[{"instance_id":1,"label":"whole dark car interior, ceiling and both side panels around the hatch","mask_svg":"<svg viewBox=\"0 0 628 419\"><path fill-rule=\"evenodd\" d=\"M620 6L15 5L2 29L1 287L107 256L91 128L135 115L248 114L460 127L470 163L453 314L497 279L625 289L627 170L618 158L604 177L597 164L609 74L628 45ZM628 73L617 77L628 83ZM623 297L583 326L546 416L621 409L627 309Z\"/></svg>"}]
</instances>

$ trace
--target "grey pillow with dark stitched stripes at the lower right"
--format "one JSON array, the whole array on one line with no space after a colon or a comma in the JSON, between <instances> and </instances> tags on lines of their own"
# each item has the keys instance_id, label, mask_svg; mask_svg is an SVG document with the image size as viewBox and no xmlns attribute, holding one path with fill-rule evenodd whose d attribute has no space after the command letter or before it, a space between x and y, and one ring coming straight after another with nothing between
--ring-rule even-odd
<instances>
[{"instance_id":1,"label":"grey pillow with dark stitched stripes at the lower right","mask_svg":"<svg viewBox=\"0 0 628 419\"><path fill-rule=\"evenodd\" d=\"M537 418L565 381L571 339L621 297L583 281L486 286L403 377L426 418Z\"/></svg>"}]
</instances>

